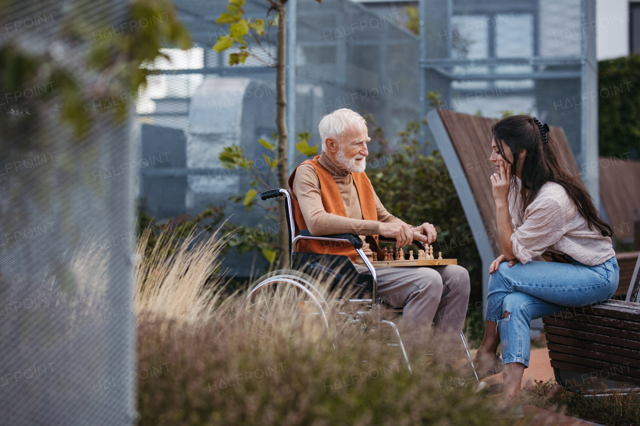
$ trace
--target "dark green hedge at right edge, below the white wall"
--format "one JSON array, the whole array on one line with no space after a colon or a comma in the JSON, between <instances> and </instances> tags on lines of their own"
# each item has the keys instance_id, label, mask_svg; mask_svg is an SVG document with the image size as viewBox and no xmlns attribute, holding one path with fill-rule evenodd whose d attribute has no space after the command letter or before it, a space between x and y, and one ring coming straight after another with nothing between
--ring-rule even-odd
<instances>
[{"instance_id":1,"label":"dark green hedge at right edge, below the white wall","mask_svg":"<svg viewBox=\"0 0 640 426\"><path fill-rule=\"evenodd\" d=\"M620 157L628 153L628 158L637 159L640 152L640 54L598 62L598 91L600 155Z\"/></svg>"}]
</instances>

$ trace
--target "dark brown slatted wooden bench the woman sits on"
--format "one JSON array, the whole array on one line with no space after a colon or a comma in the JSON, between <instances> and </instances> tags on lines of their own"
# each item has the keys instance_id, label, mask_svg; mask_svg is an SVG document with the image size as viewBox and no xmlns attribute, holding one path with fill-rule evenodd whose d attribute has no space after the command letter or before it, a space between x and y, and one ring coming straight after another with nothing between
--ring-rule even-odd
<instances>
[{"instance_id":1,"label":"dark brown slatted wooden bench the woman sits on","mask_svg":"<svg viewBox=\"0 0 640 426\"><path fill-rule=\"evenodd\" d=\"M640 387L639 267L636 261L625 301L569 308L542 319L558 384L580 390L593 387L585 384L591 379L609 388L616 388L616 383Z\"/></svg>"}]
</instances>

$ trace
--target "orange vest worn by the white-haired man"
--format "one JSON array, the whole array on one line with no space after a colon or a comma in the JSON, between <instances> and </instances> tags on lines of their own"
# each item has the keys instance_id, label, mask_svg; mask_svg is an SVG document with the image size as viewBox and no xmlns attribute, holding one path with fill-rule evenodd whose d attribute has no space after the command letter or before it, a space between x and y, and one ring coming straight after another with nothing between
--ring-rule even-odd
<instances>
[{"instance_id":1,"label":"orange vest worn by the white-haired man","mask_svg":"<svg viewBox=\"0 0 640 426\"><path fill-rule=\"evenodd\" d=\"M337 216L346 217L347 214L344 210L344 202L342 202L342 195L340 195L338 185L335 183L333 176L320 165L318 162L319 157L320 155L316 155L314 159L307 160L302 164L310 164L314 169L316 169L316 173L320 180L320 196L322 198L324 211ZM298 199L293 194L293 180L296 177L296 170L298 170L298 167L302 164L299 164L293 170L291 176L289 176L289 188L291 189L291 198L293 203L293 217L296 222L295 235L300 235L301 229L308 230L307 223L305 223L305 218L302 216L300 205L298 204ZM351 176L353 177L353 183L356 185L356 190L358 191L360 209L362 209L362 218L369 221L377 221L378 212L376 210L376 199L374 197L373 187L371 186L371 182L369 182L369 178L367 178L364 171L362 173L351 173ZM378 251L378 258L381 258L380 256L382 256L383 253L380 248L378 248L378 235L372 235L372 237L375 240L375 246L371 245L371 250ZM298 241L298 248L296 248L296 251L300 251L301 253L323 253L349 256L352 261L355 261L358 256L353 246L346 242L300 240Z\"/></svg>"}]
</instances>

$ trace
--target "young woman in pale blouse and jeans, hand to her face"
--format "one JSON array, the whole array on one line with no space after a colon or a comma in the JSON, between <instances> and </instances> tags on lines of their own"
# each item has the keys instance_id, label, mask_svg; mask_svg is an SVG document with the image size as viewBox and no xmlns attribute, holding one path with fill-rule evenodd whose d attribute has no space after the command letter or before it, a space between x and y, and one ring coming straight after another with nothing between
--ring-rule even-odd
<instances>
[{"instance_id":1,"label":"young woman in pale blouse and jeans, hand to her face","mask_svg":"<svg viewBox=\"0 0 640 426\"><path fill-rule=\"evenodd\" d=\"M604 301L618 287L611 227L582 184L561 167L548 131L528 115L503 118L492 128L490 161L498 172L491 183L503 254L489 270L486 330L474 365L499 372L502 364L497 406L505 416L522 416L531 320ZM531 260L538 255L547 262Z\"/></svg>"}]
</instances>

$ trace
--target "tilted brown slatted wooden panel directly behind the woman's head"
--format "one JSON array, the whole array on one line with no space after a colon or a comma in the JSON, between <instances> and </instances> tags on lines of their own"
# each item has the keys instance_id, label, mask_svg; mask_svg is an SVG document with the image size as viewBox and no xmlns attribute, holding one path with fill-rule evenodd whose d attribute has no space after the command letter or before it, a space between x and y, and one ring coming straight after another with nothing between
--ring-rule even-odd
<instances>
[{"instance_id":1,"label":"tilted brown slatted wooden panel directly behind the woman's head","mask_svg":"<svg viewBox=\"0 0 640 426\"><path fill-rule=\"evenodd\" d=\"M449 169L449 173L451 177L466 176L482 217L484 228L488 232L487 236L491 242L493 255L498 256L502 253L502 248L500 248L500 241L496 232L497 221L490 181L490 176L496 170L493 163L489 161L492 151L491 128L498 120L455 113L447 109L438 109L438 115L447 130L447 134L449 134L461 164L460 170ZM574 175L582 182L580 170L562 127L550 126L550 135L556 142L556 149L564 162L566 173Z\"/></svg>"}]
</instances>

